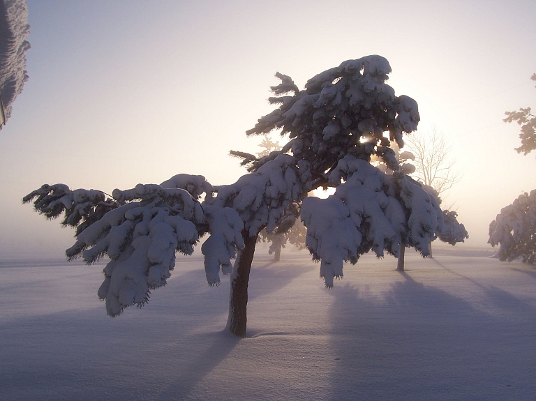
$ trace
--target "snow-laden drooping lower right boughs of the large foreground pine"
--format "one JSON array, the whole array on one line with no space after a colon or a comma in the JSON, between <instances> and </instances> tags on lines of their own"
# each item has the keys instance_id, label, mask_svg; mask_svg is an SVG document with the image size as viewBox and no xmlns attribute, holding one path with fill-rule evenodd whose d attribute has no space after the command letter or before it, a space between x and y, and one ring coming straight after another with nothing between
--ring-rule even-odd
<instances>
[{"instance_id":1,"label":"snow-laden drooping lower right boughs of the large foreground pine","mask_svg":"<svg viewBox=\"0 0 536 401\"><path fill-rule=\"evenodd\" d=\"M433 196L404 174L385 174L347 155L329 181L343 183L327 199L307 197L301 204L306 245L313 259L322 260L320 275L327 287L332 287L333 278L342 277L343 262L355 263L370 250L378 257L384 250L398 257L407 245L427 256L435 236L442 234L454 242L466 238L463 225L463 232L460 227L454 232L452 222L451 231L445 229L444 214ZM456 220L455 213L448 216Z\"/></svg>"}]
</instances>

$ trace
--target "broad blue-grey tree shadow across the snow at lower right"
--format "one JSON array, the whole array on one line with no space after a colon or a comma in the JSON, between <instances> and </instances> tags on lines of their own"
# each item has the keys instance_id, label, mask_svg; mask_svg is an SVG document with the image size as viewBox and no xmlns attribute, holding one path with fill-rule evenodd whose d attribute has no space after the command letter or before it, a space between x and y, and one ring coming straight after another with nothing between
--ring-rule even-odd
<instances>
[{"instance_id":1,"label":"broad blue-grey tree shadow across the snow at lower right","mask_svg":"<svg viewBox=\"0 0 536 401\"><path fill-rule=\"evenodd\" d=\"M512 400L535 393L532 308L515 303L514 315L490 315L400 274L404 280L382 294L367 285L330 292L332 400ZM503 307L511 303L502 292L487 294L502 296Z\"/></svg>"}]
</instances>

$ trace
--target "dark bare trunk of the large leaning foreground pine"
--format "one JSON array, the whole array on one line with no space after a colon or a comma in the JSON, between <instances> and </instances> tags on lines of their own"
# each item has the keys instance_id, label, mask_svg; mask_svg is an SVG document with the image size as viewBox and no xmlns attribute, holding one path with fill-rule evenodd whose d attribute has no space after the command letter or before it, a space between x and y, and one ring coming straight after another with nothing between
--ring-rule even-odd
<instances>
[{"instance_id":1,"label":"dark bare trunk of the large leaning foreground pine","mask_svg":"<svg viewBox=\"0 0 536 401\"><path fill-rule=\"evenodd\" d=\"M249 272L251 271L253 254L255 253L255 243L257 243L257 236L247 235L247 233L244 234L246 246L239 251L231 275L227 328L238 337L246 337Z\"/></svg>"}]
</instances>

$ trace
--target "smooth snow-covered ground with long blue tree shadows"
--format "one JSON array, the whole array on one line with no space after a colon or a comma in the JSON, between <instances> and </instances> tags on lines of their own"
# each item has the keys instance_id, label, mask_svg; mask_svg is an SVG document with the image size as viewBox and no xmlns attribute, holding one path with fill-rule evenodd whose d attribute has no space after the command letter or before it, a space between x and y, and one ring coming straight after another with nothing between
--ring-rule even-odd
<instances>
[{"instance_id":1,"label":"smooth snow-covered ground with long blue tree shadows","mask_svg":"<svg viewBox=\"0 0 536 401\"><path fill-rule=\"evenodd\" d=\"M248 338L229 280L180 257L111 319L100 266L0 262L0 400L535 400L536 268L491 252L362 257L325 289L306 253L258 252Z\"/></svg>"}]
</instances>

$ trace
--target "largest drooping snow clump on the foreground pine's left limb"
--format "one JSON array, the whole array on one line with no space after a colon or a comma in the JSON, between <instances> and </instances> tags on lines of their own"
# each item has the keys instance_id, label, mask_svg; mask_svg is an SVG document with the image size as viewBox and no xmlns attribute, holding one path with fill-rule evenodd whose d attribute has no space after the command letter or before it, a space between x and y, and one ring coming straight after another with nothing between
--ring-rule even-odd
<instances>
[{"instance_id":1,"label":"largest drooping snow clump on the foreground pine's left limb","mask_svg":"<svg viewBox=\"0 0 536 401\"><path fill-rule=\"evenodd\" d=\"M91 262L104 253L112 259L98 290L110 316L147 303L150 290L170 278L175 252L191 255L199 239L194 222L179 213L163 204L140 205L125 204L78 236L77 242L92 246L84 251L84 260Z\"/></svg>"}]
</instances>

